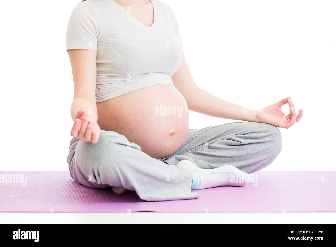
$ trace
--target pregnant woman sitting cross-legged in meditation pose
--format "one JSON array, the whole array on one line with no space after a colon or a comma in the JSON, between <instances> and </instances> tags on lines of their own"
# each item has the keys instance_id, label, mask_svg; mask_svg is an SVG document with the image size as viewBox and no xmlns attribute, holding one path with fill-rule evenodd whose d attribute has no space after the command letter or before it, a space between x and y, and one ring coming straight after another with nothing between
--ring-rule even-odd
<instances>
[{"instance_id":1,"label":"pregnant woman sitting cross-legged in meditation pose","mask_svg":"<svg viewBox=\"0 0 336 247\"><path fill-rule=\"evenodd\" d=\"M159 0L86 0L67 30L75 95L72 178L146 201L198 198L192 190L244 186L282 148L278 127L302 117L291 97L251 110L199 88L178 23ZM281 107L288 104L290 113ZM188 109L236 119L189 129Z\"/></svg>"}]
</instances>

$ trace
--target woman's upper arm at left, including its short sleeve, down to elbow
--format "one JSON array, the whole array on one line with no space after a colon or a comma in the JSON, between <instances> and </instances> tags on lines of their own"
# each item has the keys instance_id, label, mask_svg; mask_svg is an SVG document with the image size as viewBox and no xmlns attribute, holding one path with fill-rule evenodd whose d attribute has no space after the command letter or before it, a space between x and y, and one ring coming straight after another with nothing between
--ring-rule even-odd
<instances>
[{"instance_id":1,"label":"woman's upper arm at left, including its short sleeve, down to elbow","mask_svg":"<svg viewBox=\"0 0 336 247\"><path fill-rule=\"evenodd\" d=\"M95 99L97 44L100 38L97 16L84 2L71 12L66 34L75 97Z\"/></svg>"}]
</instances>

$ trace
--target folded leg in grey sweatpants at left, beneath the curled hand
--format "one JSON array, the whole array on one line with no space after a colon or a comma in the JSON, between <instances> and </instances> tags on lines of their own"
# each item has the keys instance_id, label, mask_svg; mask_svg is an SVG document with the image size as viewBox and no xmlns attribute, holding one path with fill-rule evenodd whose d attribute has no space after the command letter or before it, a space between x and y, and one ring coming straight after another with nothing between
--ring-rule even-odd
<instances>
[{"instance_id":1,"label":"folded leg in grey sweatpants at left, beneath the curled hand","mask_svg":"<svg viewBox=\"0 0 336 247\"><path fill-rule=\"evenodd\" d=\"M191 193L192 176L187 169L150 157L115 131L101 130L96 144L72 138L69 151L70 175L87 187L123 187L146 201L199 197Z\"/></svg>"}]
</instances>

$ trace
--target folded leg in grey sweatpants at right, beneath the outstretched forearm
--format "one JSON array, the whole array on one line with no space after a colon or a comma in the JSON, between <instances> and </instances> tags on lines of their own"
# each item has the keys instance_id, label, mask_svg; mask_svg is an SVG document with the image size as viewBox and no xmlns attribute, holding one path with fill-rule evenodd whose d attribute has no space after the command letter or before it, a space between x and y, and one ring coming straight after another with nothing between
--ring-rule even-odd
<instances>
[{"instance_id":1,"label":"folded leg in grey sweatpants at right, beneath the outstretched forearm","mask_svg":"<svg viewBox=\"0 0 336 247\"><path fill-rule=\"evenodd\" d=\"M232 165L252 173L268 166L281 149L276 126L236 122L190 130L182 147L161 160L169 165L190 160L202 169Z\"/></svg>"}]
</instances>

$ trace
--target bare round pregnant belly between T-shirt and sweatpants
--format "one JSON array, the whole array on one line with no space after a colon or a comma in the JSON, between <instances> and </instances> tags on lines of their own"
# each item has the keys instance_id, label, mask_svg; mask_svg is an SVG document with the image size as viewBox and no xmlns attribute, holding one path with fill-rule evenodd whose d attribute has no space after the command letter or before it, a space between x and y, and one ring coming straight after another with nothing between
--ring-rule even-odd
<instances>
[{"instance_id":1,"label":"bare round pregnant belly between T-shirt and sweatpants","mask_svg":"<svg viewBox=\"0 0 336 247\"><path fill-rule=\"evenodd\" d=\"M189 129L185 99L169 84L144 87L98 102L97 111L100 129L124 135L156 159L175 153Z\"/></svg>"}]
</instances>

